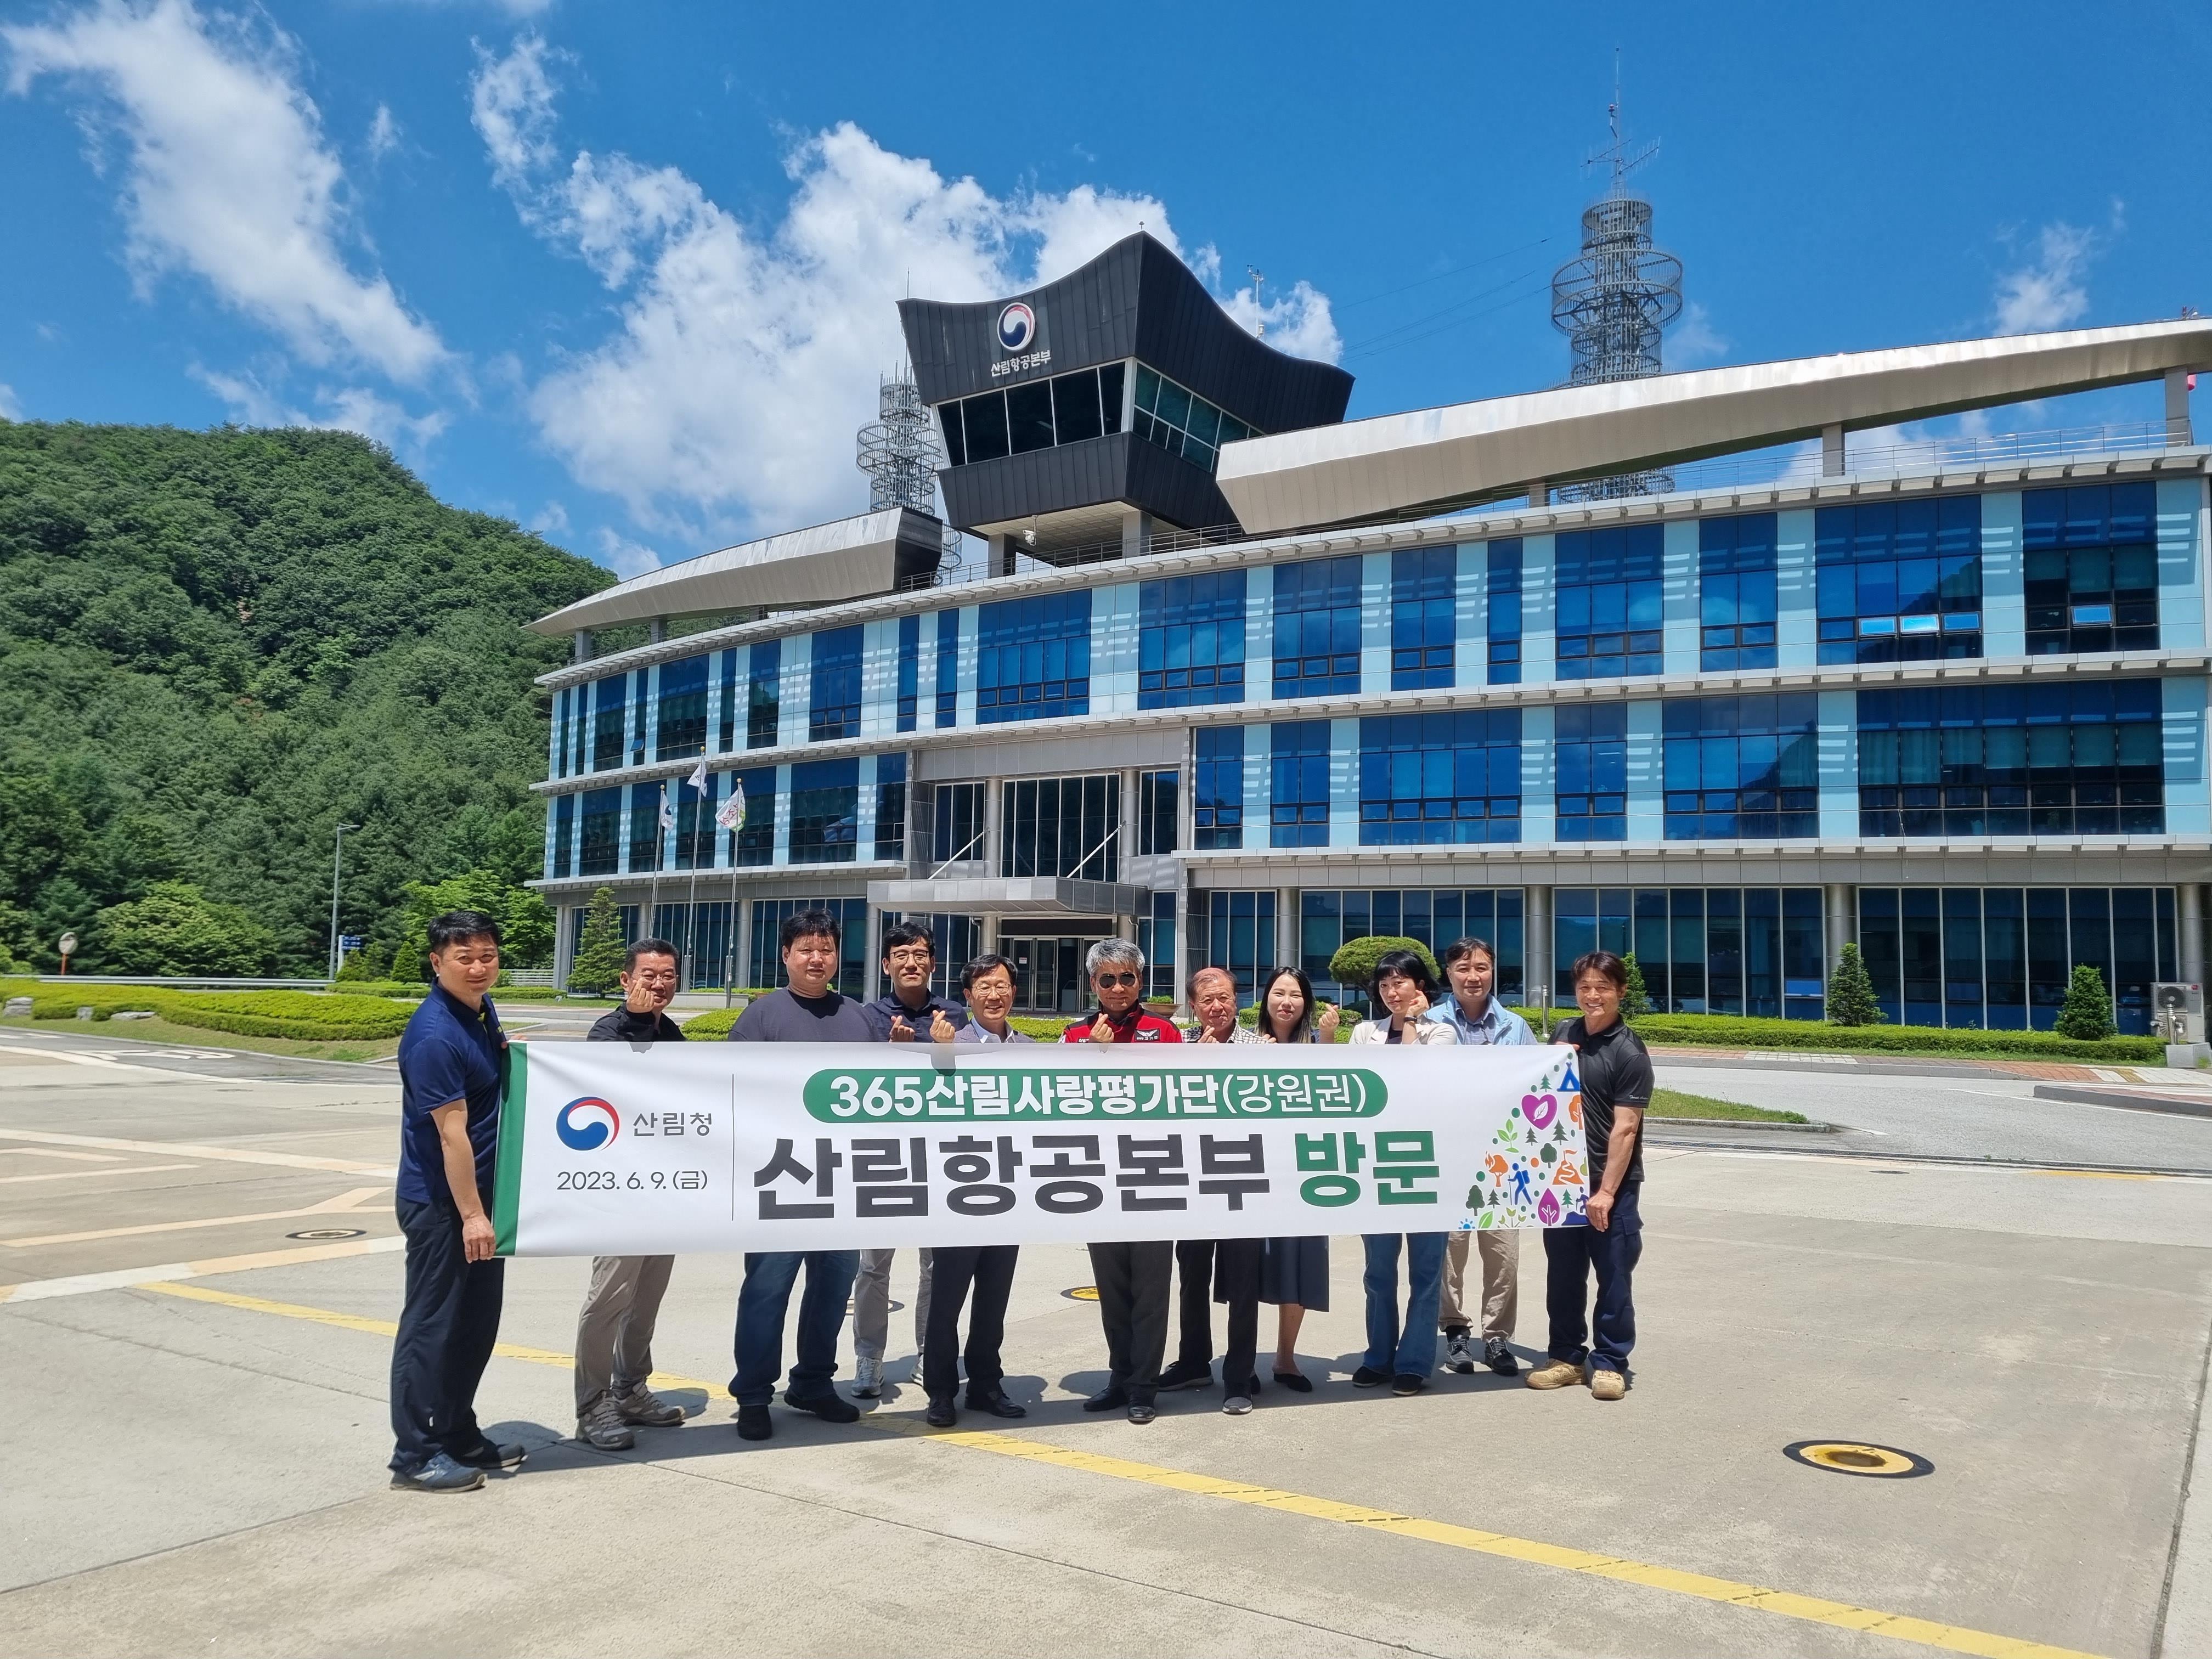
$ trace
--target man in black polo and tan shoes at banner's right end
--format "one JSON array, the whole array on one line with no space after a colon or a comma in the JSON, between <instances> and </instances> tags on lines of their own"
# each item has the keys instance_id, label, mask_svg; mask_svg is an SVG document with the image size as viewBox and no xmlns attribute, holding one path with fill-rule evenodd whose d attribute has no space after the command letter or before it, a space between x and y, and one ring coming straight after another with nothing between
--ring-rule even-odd
<instances>
[{"instance_id":1,"label":"man in black polo and tan shoes at banner's right end","mask_svg":"<svg viewBox=\"0 0 2212 1659\"><path fill-rule=\"evenodd\" d=\"M1553 1035L1553 1042L1575 1048L1590 1164L1590 1225L1544 1230L1551 1365L1528 1374L1531 1389L1588 1380L1599 1400L1619 1400L1628 1391L1628 1349L1637 1343L1630 1279L1644 1254L1637 1197L1644 1188L1644 1108L1652 1099L1652 1057L1621 1020L1626 989L1628 964L1613 951L1577 958L1575 1002L1582 1015ZM1586 1318L1593 1272L1597 1305ZM1586 1336L1595 1336L1595 1347L1584 1345Z\"/></svg>"}]
</instances>

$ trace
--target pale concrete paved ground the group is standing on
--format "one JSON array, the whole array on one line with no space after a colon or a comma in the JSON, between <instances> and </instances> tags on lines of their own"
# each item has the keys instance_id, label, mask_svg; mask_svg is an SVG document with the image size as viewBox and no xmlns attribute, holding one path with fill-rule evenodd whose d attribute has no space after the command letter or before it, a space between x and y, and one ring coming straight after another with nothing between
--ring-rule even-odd
<instances>
[{"instance_id":1,"label":"pale concrete paved ground the group is standing on","mask_svg":"<svg viewBox=\"0 0 2212 1659\"><path fill-rule=\"evenodd\" d=\"M894 1387L745 1447L739 1265L699 1256L657 1345L692 1418L599 1455L562 1438L586 1263L540 1259L480 1396L531 1462L420 1498L383 1484L389 1066L0 1029L0 1652L2212 1652L2212 1183L2174 1175L2212 1170L2212 1121L1805 1071L1663 1066L1845 1128L1652 1150L1619 1405L1354 1394L1336 1241L1316 1394L1084 1418L1088 1263L1035 1248L1024 1422L927 1436ZM1827 1473L1801 1440L1933 1471Z\"/></svg>"}]
</instances>

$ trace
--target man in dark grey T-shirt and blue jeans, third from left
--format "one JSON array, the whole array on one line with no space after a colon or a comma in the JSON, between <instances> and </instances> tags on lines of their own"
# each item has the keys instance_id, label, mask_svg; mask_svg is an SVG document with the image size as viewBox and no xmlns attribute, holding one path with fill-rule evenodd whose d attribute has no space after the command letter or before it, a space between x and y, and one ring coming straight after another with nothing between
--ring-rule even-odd
<instances>
[{"instance_id":1,"label":"man in dark grey T-shirt and blue jeans, third from left","mask_svg":"<svg viewBox=\"0 0 2212 1659\"><path fill-rule=\"evenodd\" d=\"M783 922L781 991L752 1002L734 1026L730 1042L874 1042L860 1004L830 984L836 978L838 922L825 909L803 909ZM832 1152L838 1164L843 1155ZM810 1172L830 1186L832 1168ZM776 1429L768 1420L768 1402L776 1398L783 1374L783 1314L792 1303L799 1267L807 1270L807 1290L799 1301L799 1363L783 1389L783 1402L812 1411L823 1422L858 1422L860 1407L830 1387L836 1376L836 1338L845 1329L845 1298L852 1296L860 1270L858 1250L759 1250L745 1252L745 1287L737 1294L737 1433L745 1440L768 1440Z\"/></svg>"}]
</instances>

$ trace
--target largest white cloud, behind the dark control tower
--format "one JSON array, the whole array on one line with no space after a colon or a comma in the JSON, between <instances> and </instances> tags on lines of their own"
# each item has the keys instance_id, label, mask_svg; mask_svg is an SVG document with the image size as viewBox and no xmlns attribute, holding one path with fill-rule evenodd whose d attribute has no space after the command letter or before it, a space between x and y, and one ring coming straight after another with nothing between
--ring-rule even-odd
<instances>
[{"instance_id":1,"label":"largest white cloud, behind the dark control tower","mask_svg":"<svg viewBox=\"0 0 2212 1659\"><path fill-rule=\"evenodd\" d=\"M546 374L529 409L573 478L670 535L858 511L852 440L876 416L876 376L905 356L902 294L1015 292L1139 226L1181 248L1155 197L993 197L849 122L792 148L783 219L754 228L677 168L591 150L562 166L557 64L524 35L504 58L480 53L471 84L493 177L524 223L622 296L613 334ZM1225 303L1239 314L1239 299ZM1259 321L1250 296L1243 312ZM1305 283L1270 301L1267 325L1274 345L1334 356L1327 299Z\"/></svg>"}]
</instances>

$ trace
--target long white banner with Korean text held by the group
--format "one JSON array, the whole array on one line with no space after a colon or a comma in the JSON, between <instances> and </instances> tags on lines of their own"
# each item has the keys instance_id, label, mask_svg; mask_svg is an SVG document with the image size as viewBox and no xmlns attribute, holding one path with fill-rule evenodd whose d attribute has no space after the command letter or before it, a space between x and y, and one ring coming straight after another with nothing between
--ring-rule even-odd
<instances>
[{"instance_id":1,"label":"long white banner with Korean text held by the group","mask_svg":"<svg viewBox=\"0 0 2212 1659\"><path fill-rule=\"evenodd\" d=\"M1586 1225L1573 1048L513 1044L502 1254Z\"/></svg>"}]
</instances>

